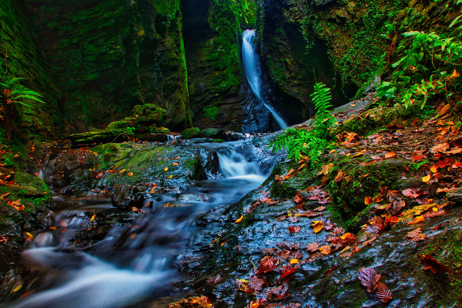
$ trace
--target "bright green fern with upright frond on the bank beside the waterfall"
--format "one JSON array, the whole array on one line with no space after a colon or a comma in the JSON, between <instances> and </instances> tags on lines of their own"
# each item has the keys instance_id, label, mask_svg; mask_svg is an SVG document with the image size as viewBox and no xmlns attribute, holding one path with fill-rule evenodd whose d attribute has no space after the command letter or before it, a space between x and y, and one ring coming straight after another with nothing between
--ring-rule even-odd
<instances>
[{"instance_id":1,"label":"bright green fern with upright frond on the bank beside the waterfall","mask_svg":"<svg viewBox=\"0 0 462 308\"><path fill-rule=\"evenodd\" d=\"M332 96L330 95L330 89L326 85L317 83L311 97L316 109L314 127L311 129L304 127L288 128L284 133L273 139L268 148L273 145L273 151L287 149L289 151L287 158L289 159L297 159L300 156L307 155L310 157L311 167L314 168L322 150L330 147L329 140L332 136L334 117L328 110L328 108L332 107L329 104Z\"/></svg>"}]
</instances>

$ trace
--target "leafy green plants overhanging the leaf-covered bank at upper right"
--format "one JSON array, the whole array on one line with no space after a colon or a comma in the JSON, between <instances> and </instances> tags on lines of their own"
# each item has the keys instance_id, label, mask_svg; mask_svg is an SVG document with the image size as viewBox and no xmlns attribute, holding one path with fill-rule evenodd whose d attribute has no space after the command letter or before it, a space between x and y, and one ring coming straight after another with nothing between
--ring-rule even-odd
<instances>
[{"instance_id":1,"label":"leafy green plants overhanging the leaf-covered bank at upper right","mask_svg":"<svg viewBox=\"0 0 462 308\"><path fill-rule=\"evenodd\" d=\"M394 69L389 77L391 81L383 82L377 96L387 104L401 103L406 109L416 102L423 108L428 99L435 99L460 117L462 26L453 26L462 21L461 17L455 18L440 33L403 33L405 39L411 42L398 48L402 54L391 64Z\"/></svg>"}]
</instances>

